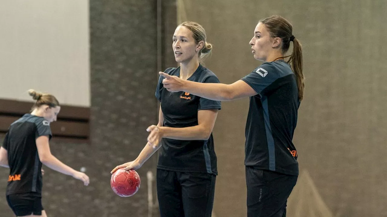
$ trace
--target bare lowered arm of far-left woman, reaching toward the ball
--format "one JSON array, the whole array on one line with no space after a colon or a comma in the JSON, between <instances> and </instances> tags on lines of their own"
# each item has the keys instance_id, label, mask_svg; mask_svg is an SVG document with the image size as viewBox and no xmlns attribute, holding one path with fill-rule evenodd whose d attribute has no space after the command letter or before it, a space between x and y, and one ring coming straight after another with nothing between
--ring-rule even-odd
<instances>
[{"instance_id":1,"label":"bare lowered arm of far-left woman, reaching toward the ball","mask_svg":"<svg viewBox=\"0 0 387 217\"><path fill-rule=\"evenodd\" d=\"M40 161L48 168L63 173L65 175L73 176L74 178L81 180L85 185L89 184L89 177L86 174L74 170L70 166L62 163L51 154L50 145L48 143L48 136L39 136L36 139L36 147L38 149L38 155Z\"/></svg>"}]
</instances>

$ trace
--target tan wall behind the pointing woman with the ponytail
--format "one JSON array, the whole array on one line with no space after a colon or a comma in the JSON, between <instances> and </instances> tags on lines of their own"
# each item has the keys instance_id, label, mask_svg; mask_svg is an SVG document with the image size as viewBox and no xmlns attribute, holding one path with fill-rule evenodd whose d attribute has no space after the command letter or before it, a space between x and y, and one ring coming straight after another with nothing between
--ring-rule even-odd
<instances>
[{"instance_id":1,"label":"tan wall behind the pointing woman with the ponytail","mask_svg":"<svg viewBox=\"0 0 387 217\"><path fill-rule=\"evenodd\" d=\"M205 63L224 83L261 64L248 45L259 19L278 14L293 24L293 34L304 45L306 76L294 143L300 169L308 171L313 182L296 187L297 192L315 189L309 191L312 195L292 201L321 197L334 216L387 216L387 2L178 2L184 5L186 20L206 29L214 50ZM242 217L246 216L243 146L248 99L225 102L222 107L214 129L219 165L214 212ZM318 212L306 214L305 204L292 204L289 216L318 216Z\"/></svg>"}]
</instances>

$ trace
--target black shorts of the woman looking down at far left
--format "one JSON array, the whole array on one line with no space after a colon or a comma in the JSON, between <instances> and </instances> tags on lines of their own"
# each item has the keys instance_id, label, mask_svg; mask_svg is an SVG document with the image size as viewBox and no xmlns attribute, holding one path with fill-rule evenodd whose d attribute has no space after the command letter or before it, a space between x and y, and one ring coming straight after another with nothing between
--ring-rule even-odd
<instances>
[{"instance_id":1,"label":"black shorts of the woman looking down at far left","mask_svg":"<svg viewBox=\"0 0 387 217\"><path fill-rule=\"evenodd\" d=\"M42 196L36 192L7 195L7 202L16 216L41 215Z\"/></svg>"}]
</instances>

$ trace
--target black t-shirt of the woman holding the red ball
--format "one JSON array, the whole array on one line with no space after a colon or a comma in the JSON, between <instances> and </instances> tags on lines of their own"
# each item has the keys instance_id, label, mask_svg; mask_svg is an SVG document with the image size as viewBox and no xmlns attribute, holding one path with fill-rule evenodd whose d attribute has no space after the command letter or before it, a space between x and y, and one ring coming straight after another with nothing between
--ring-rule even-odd
<instances>
[{"instance_id":1,"label":"black t-shirt of the woman holding the red ball","mask_svg":"<svg viewBox=\"0 0 387 217\"><path fill-rule=\"evenodd\" d=\"M180 75L180 67L168 68L164 71L169 75ZM156 98L161 102L164 114L163 126L192 127L198 125L198 110L221 109L219 101L208 100L186 92L169 92L163 87L164 77L159 77ZM212 71L199 65L189 81L201 83L219 83ZM199 172L217 175L214 139L208 140L176 140L163 138L159 151L157 167L163 170L178 172Z\"/></svg>"}]
</instances>

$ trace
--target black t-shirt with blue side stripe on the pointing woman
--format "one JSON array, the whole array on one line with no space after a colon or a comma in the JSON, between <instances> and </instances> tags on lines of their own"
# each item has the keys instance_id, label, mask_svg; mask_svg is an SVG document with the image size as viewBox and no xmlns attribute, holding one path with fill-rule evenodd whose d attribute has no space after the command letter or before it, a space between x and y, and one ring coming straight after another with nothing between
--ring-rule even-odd
<instances>
[{"instance_id":1,"label":"black t-shirt with blue side stripe on the pointing woman","mask_svg":"<svg viewBox=\"0 0 387 217\"><path fill-rule=\"evenodd\" d=\"M258 93L250 97L245 165L298 175L292 139L300 100L289 64L283 60L264 63L241 80Z\"/></svg>"}]
</instances>

